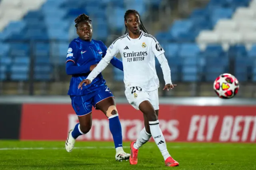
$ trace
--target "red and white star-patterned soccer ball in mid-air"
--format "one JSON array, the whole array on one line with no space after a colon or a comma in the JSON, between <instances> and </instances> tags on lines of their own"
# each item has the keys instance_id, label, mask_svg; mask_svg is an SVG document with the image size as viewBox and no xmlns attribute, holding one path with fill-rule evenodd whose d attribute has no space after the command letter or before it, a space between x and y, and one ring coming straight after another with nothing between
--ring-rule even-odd
<instances>
[{"instance_id":1,"label":"red and white star-patterned soccer ball in mid-air","mask_svg":"<svg viewBox=\"0 0 256 170\"><path fill-rule=\"evenodd\" d=\"M225 73L216 78L213 89L221 99L231 99L238 93L239 82L234 75Z\"/></svg>"}]
</instances>

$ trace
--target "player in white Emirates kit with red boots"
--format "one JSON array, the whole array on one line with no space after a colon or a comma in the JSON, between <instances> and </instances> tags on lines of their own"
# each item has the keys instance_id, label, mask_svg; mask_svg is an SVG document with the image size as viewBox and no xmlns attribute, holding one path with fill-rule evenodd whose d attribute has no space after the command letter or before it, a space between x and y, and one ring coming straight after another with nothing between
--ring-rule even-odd
<instances>
[{"instance_id":1,"label":"player in white Emirates kit with red boots","mask_svg":"<svg viewBox=\"0 0 256 170\"><path fill-rule=\"evenodd\" d=\"M165 165L178 166L179 163L170 156L167 150L158 121L159 80L156 74L155 56L161 64L164 74L166 84L164 90L169 90L169 88L172 89L176 86L172 85L170 67L164 56L164 49L153 36L146 33L147 31L136 10L126 11L124 24L126 26L126 33L128 33L116 39L110 45L105 57L92 70L87 79L81 81L78 88L82 88L84 84L90 84L107 67L110 60L120 52L124 67L126 98L135 109L142 111L145 124L138 139L130 144L130 164L137 164L138 149L152 136L164 157Z\"/></svg>"}]
</instances>

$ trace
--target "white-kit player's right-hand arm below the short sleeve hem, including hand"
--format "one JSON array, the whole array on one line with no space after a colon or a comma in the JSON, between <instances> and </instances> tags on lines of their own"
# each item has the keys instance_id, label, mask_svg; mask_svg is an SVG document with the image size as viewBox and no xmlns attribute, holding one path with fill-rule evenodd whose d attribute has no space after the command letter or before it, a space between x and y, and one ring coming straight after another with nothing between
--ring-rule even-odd
<instances>
[{"instance_id":1,"label":"white-kit player's right-hand arm below the short sleeve hem, including hand","mask_svg":"<svg viewBox=\"0 0 256 170\"><path fill-rule=\"evenodd\" d=\"M164 75L165 86L164 86L163 90L165 90L165 89L169 90L169 88L170 89L174 88L176 85L172 84L171 70L170 70L168 61L167 61L164 53L158 55L156 58L158 59L160 65L161 65L163 75Z\"/></svg>"}]
</instances>

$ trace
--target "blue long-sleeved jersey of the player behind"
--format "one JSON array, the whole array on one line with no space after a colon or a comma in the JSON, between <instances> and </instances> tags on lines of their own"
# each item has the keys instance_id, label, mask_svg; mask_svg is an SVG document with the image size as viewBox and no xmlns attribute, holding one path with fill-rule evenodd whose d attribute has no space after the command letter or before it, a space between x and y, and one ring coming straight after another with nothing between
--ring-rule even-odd
<instances>
[{"instance_id":1,"label":"blue long-sleeved jersey of the player behind","mask_svg":"<svg viewBox=\"0 0 256 170\"><path fill-rule=\"evenodd\" d=\"M86 79L90 73L90 66L98 64L106 55L107 47L101 41L92 40L86 42L80 38L74 39L68 47L66 56L66 72L72 75L68 95L80 96L97 91L98 87L105 85L106 81L100 73L89 85L78 89L79 83ZM110 63L120 70L123 70L122 61L114 57Z\"/></svg>"}]
</instances>

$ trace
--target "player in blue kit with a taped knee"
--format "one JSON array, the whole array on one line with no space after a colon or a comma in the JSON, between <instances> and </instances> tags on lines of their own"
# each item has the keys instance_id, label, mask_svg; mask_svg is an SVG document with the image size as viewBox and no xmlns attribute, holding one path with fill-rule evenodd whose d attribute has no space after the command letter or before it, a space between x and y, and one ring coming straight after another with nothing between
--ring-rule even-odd
<instances>
[{"instance_id":1,"label":"player in blue kit with a taped knee","mask_svg":"<svg viewBox=\"0 0 256 170\"><path fill-rule=\"evenodd\" d=\"M75 19L78 38L74 39L66 57L66 73L72 75L68 95L72 107L78 116L79 123L70 130L66 140L66 150L71 152L78 136L86 134L92 127L92 106L101 110L109 119L109 128L113 135L116 148L116 160L128 160L130 154L122 147L122 128L114 96L108 89L106 81L100 73L90 85L82 90L78 89L80 81L86 79L90 71L96 67L102 57L106 55L107 47L101 41L92 39L92 20L81 14ZM114 67L123 71L122 61L114 57L111 61Z\"/></svg>"}]
</instances>

